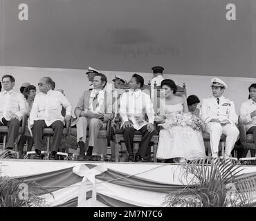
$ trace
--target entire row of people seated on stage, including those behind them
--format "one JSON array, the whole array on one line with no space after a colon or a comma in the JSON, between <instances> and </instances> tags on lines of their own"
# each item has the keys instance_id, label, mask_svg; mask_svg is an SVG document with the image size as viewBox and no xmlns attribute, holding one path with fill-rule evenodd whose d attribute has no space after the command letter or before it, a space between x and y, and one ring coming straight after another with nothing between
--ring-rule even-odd
<instances>
[{"instance_id":1,"label":"entire row of people seated on stage, including those behind them","mask_svg":"<svg viewBox=\"0 0 256 221\"><path fill-rule=\"evenodd\" d=\"M212 97L203 99L199 109L197 108L200 103L198 97L190 95L186 99L185 95L176 95L175 82L172 79L162 79L163 68L152 69L154 74L160 73L154 76L154 86L161 86L165 91L165 96L159 98L158 113L155 113L154 102L152 102L154 94L147 94L142 90L145 84L140 75L134 74L131 77L128 92L122 93L119 98L117 89L126 83L122 77L116 77L113 80L116 89L109 92L106 90L105 75L93 68L86 73L93 84L80 97L74 110L76 119L71 124L77 127L77 144L80 146L78 160L93 160L93 148L100 128L104 127L109 120L113 122L113 118L117 115L121 118L129 162L147 161L147 153L154 134L154 122L161 126L156 153L159 160L173 162L174 159L178 159L179 162L185 162L185 160L205 157L203 131L210 134L210 148L214 158L218 157L221 135L226 135L224 157L230 157L232 148L239 139L239 130L235 104L223 97L223 93L228 88L226 83L219 78L213 78L210 85ZM28 127L33 136L27 138L21 135L19 151L22 152L28 140L28 151L35 145L35 157L41 159L41 151L44 148L43 130L51 127L54 135L50 159L56 160L65 122L71 120L71 102L62 91L54 90L55 83L50 77L39 80L37 95L36 87L29 83L22 85L24 96L15 92L13 90L15 78L11 75L2 77L2 86L0 125L8 126L7 148L14 148L21 119L27 116ZM253 134L256 149L256 84L249 87L249 93L250 99L241 106L240 121L246 124L247 133ZM65 115L63 111L66 112ZM87 129L89 129L88 132ZM134 157L133 139L136 131L140 131L142 140L138 153ZM85 146L86 136L89 137L88 148ZM255 151L253 153L255 155Z\"/></svg>"}]
</instances>

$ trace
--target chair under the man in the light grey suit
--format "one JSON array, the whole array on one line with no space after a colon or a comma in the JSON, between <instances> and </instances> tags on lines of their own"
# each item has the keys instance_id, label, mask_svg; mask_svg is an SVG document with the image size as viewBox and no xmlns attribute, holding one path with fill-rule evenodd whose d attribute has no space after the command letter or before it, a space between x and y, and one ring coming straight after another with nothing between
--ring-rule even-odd
<instances>
[{"instance_id":1,"label":"chair under the man in the light grey suit","mask_svg":"<svg viewBox=\"0 0 256 221\"><path fill-rule=\"evenodd\" d=\"M76 126L72 126L70 128L70 134L74 137L77 136L77 128ZM87 128L86 138L89 137L89 128ZM111 120L109 119L107 122L104 122L102 127L100 128L100 132L98 134L98 139L107 139L107 143L109 144L111 139ZM93 153L93 155L98 156L103 160L103 155L98 153ZM73 160L75 160L75 154L73 154Z\"/></svg>"}]
</instances>

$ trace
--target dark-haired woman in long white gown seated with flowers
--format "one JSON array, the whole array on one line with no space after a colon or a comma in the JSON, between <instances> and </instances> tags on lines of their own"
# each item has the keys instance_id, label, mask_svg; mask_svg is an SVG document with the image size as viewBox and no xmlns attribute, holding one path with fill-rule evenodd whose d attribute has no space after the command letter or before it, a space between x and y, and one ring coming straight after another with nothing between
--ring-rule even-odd
<instances>
[{"instance_id":1,"label":"dark-haired woman in long white gown seated with flowers","mask_svg":"<svg viewBox=\"0 0 256 221\"><path fill-rule=\"evenodd\" d=\"M161 107L165 108L165 115L156 117L156 120L164 119L164 124L159 124L163 129L159 133L156 157L161 160L178 157L179 162L205 157L202 134L196 131L192 124L187 125L189 122L187 119L194 118L188 113L185 95L183 97L175 95L177 86L171 79L163 80L161 88L165 90L165 101L161 102L165 104Z\"/></svg>"}]
</instances>

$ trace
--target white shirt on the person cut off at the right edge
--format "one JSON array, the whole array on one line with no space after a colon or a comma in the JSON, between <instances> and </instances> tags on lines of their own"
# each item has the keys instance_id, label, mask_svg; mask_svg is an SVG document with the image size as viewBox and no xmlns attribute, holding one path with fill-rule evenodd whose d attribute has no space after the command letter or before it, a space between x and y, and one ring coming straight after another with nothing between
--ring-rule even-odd
<instances>
[{"instance_id":1,"label":"white shirt on the person cut off at the right edge","mask_svg":"<svg viewBox=\"0 0 256 221\"><path fill-rule=\"evenodd\" d=\"M256 116L250 117L250 113L256 111L256 103L253 99L248 99L248 101L241 104L240 108L240 121L246 124L246 131L252 126L256 126Z\"/></svg>"}]
</instances>

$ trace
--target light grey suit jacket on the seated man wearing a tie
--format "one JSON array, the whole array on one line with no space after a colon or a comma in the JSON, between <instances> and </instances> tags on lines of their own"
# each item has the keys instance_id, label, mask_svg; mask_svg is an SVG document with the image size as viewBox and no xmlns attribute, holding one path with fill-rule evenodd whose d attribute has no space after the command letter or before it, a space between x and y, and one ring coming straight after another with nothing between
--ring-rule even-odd
<instances>
[{"instance_id":1,"label":"light grey suit jacket on the seated man wearing a tie","mask_svg":"<svg viewBox=\"0 0 256 221\"><path fill-rule=\"evenodd\" d=\"M85 90L82 96L79 99L79 102L75 108L75 116L78 118L80 113L85 109L89 110L89 99L92 90ZM104 104L101 106L100 113L103 113L104 119L103 122L107 122L109 119L113 119L113 111L112 111L112 97L110 93L104 91ZM71 126L75 126L77 119L71 124Z\"/></svg>"}]
</instances>

